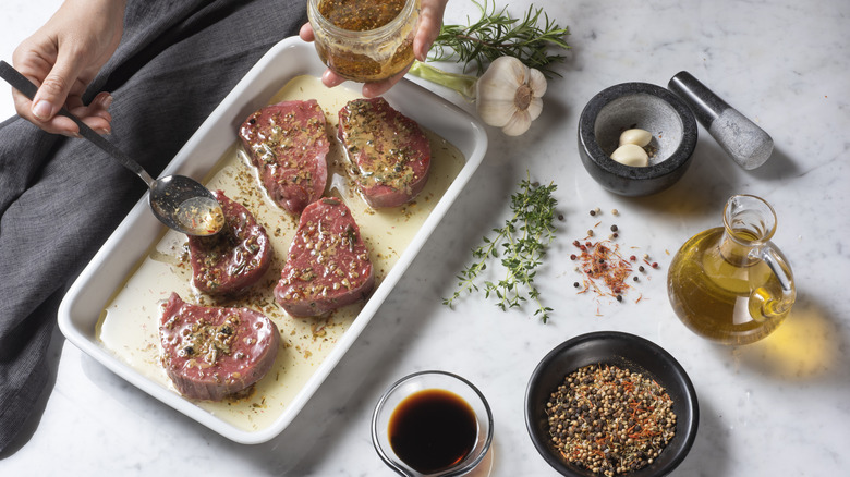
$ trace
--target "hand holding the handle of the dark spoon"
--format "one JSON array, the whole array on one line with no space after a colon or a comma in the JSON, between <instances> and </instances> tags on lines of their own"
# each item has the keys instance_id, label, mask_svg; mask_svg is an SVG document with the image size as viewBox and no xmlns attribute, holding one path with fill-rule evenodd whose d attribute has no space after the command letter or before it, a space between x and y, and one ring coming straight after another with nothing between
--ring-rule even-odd
<instances>
[{"instance_id":1,"label":"hand holding the handle of the dark spoon","mask_svg":"<svg viewBox=\"0 0 850 477\"><path fill-rule=\"evenodd\" d=\"M16 90L12 93L22 118L48 133L76 136L77 125L56 115L64 106L95 131L111 131L108 109L112 97L100 93L85 106L82 95L118 48L124 5L124 0L66 0L15 49L15 69L38 86L32 101Z\"/></svg>"}]
</instances>

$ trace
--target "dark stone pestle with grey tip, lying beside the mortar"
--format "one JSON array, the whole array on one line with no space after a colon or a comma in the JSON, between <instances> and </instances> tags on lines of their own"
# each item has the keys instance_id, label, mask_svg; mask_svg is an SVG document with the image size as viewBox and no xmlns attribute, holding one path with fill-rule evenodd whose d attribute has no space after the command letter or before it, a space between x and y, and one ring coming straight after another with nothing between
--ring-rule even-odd
<instances>
[{"instance_id":1,"label":"dark stone pestle with grey tip, lying beside the mortar","mask_svg":"<svg viewBox=\"0 0 850 477\"><path fill-rule=\"evenodd\" d=\"M755 169L773 154L774 139L763 129L687 71L673 76L667 87L688 103L700 124L742 168Z\"/></svg>"}]
</instances>

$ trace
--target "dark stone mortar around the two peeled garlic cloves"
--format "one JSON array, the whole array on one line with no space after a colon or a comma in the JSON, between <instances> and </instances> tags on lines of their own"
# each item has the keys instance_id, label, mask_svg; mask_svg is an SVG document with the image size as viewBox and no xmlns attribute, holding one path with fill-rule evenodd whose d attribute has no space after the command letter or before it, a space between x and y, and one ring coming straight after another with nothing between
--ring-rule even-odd
<instances>
[{"instance_id":1,"label":"dark stone mortar around the two peeled garlic cloves","mask_svg":"<svg viewBox=\"0 0 850 477\"><path fill-rule=\"evenodd\" d=\"M610 158L620 133L640 127L653 135L649 166L632 167ZM679 97L647 83L622 83L596 94L579 119L579 156L591 176L606 189L645 196L675 184L696 148L696 120Z\"/></svg>"}]
</instances>

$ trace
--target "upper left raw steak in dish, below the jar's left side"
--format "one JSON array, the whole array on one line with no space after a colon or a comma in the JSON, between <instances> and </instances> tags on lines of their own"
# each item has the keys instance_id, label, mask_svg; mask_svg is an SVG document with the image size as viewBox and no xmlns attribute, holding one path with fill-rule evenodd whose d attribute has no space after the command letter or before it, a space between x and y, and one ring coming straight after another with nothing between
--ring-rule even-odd
<instances>
[{"instance_id":1,"label":"upper left raw steak in dish, below the jar's left side","mask_svg":"<svg viewBox=\"0 0 850 477\"><path fill-rule=\"evenodd\" d=\"M263 186L292 215L301 213L325 192L325 156L330 149L325 124L325 112L311 99L267 106L239 130Z\"/></svg>"}]
</instances>

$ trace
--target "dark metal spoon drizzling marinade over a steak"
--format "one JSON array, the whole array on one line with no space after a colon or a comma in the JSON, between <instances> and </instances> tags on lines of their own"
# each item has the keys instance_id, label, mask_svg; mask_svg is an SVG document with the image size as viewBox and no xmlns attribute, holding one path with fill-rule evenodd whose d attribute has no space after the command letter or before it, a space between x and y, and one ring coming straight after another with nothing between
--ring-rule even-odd
<instances>
[{"instance_id":1,"label":"dark metal spoon drizzling marinade over a steak","mask_svg":"<svg viewBox=\"0 0 850 477\"><path fill-rule=\"evenodd\" d=\"M38 87L5 61L0 61L0 77L29 99ZM88 127L65 108L59 114L70 118L80 126L80 134L95 144L122 166L135 172L150 188L148 204L154 216L171 229L187 235L212 235L221 230L224 216L216 197L206 187L185 175L167 175L154 180L138 162L125 155L112 143Z\"/></svg>"}]
</instances>

